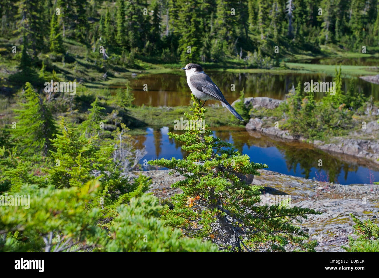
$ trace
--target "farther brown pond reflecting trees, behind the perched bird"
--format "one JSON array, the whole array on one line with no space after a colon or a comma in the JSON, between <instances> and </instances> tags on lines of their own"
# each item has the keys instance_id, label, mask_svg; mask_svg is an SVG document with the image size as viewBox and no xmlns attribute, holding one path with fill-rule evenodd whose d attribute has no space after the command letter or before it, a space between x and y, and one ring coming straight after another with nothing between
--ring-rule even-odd
<instances>
[{"instance_id":1,"label":"farther brown pond reflecting trees, behind the perched bird","mask_svg":"<svg viewBox=\"0 0 379 278\"><path fill-rule=\"evenodd\" d=\"M221 92L229 103L240 96L244 89L245 96L268 96L274 99L284 99L292 85L296 87L298 82L313 81L331 82L332 76L322 73L315 74L269 74L269 73L231 73L222 71L207 71L213 82L219 86ZM365 96L372 95L374 100L379 100L379 85L364 81L360 78L343 78L343 90L349 88L349 82L353 82L354 88ZM147 84L147 91L144 91ZM232 91L232 84L235 90ZM184 71L141 76L130 80L134 104L137 106L186 106L190 104L190 90L187 85ZM113 84L110 89L122 88L125 84ZM315 93L319 99L323 93ZM207 101L207 105L215 104L215 101Z\"/></svg>"}]
</instances>

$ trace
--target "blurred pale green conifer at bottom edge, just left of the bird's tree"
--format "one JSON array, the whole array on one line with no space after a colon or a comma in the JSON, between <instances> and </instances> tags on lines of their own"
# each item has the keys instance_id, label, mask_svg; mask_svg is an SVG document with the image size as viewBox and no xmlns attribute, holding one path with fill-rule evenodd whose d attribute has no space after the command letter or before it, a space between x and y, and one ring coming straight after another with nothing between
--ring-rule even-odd
<instances>
[{"instance_id":1,"label":"blurred pale green conifer at bottom edge, just left of the bird's tree","mask_svg":"<svg viewBox=\"0 0 379 278\"><path fill-rule=\"evenodd\" d=\"M185 238L179 229L159 219L162 207L155 196L143 195L130 205L117 208L119 215L110 226L113 239L108 252L216 252L217 246L200 239Z\"/></svg>"}]
</instances>

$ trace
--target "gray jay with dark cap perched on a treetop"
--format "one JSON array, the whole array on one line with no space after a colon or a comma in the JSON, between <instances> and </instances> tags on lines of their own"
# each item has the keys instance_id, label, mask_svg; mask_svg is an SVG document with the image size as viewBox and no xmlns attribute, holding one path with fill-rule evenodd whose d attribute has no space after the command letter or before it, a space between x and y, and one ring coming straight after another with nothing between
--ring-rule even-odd
<instances>
[{"instance_id":1,"label":"gray jay with dark cap perched on a treetop","mask_svg":"<svg viewBox=\"0 0 379 278\"><path fill-rule=\"evenodd\" d=\"M219 87L213 83L212 79L204 73L203 68L198 64L188 64L182 70L186 71L187 83L192 94L201 100L204 104L208 99L218 100L222 106L226 107L238 119L243 121L243 118L236 110L227 102L222 95ZM204 106L203 104L203 106Z\"/></svg>"}]
</instances>

